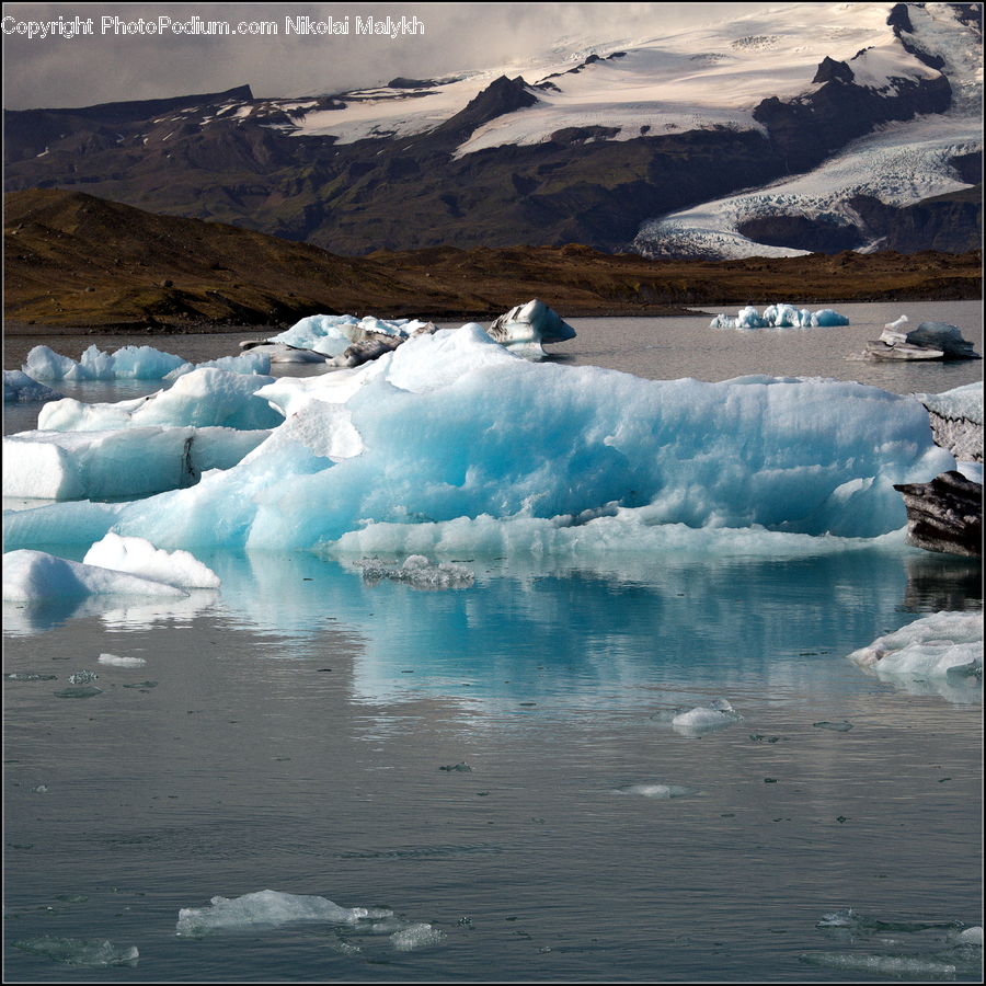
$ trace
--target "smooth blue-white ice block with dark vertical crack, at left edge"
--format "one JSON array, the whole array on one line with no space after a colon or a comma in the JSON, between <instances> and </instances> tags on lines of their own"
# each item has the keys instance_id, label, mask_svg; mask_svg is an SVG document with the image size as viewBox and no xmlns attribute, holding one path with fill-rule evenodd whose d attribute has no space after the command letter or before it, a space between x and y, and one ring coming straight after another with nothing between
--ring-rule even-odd
<instances>
[{"instance_id":1,"label":"smooth blue-white ice block with dark vertical crack, at left edge","mask_svg":"<svg viewBox=\"0 0 986 986\"><path fill-rule=\"evenodd\" d=\"M229 469L266 437L225 427L21 432L3 439L3 495L147 496L194 485L210 469Z\"/></svg>"}]
</instances>

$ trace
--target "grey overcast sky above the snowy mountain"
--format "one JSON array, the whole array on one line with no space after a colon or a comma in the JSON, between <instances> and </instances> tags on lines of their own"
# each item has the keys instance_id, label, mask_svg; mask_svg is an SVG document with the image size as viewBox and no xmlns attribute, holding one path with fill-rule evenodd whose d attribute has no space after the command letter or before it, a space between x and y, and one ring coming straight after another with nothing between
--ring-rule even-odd
<instances>
[{"instance_id":1,"label":"grey overcast sky above the snowy mountain","mask_svg":"<svg viewBox=\"0 0 986 986\"><path fill-rule=\"evenodd\" d=\"M8 110L87 106L215 92L248 83L255 96L339 92L394 76L434 77L483 69L543 51L565 35L598 42L660 36L770 3L4 3L3 105ZM345 23L349 34L288 35L286 18ZM357 36L355 19L416 16L423 34ZM92 19L92 35L27 36L32 22ZM276 35L118 34L160 18L187 24L273 22ZM36 28L35 28L36 31Z\"/></svg>"}]
</instances>

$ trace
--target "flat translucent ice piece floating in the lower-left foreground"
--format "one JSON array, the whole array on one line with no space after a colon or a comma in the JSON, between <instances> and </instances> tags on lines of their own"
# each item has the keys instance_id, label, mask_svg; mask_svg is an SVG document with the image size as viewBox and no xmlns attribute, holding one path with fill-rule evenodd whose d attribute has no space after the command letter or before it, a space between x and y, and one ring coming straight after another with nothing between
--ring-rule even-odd
<instances>
[{"instance_id":1,"label":"flat translucent ice piece floating in the lower-left foreground","mask_svg":"<svg viewBox=\"0 0 986 986\"><path fill-rule=\"evenodd\" d=\"M199 937L211 931L238 931L295 921L355 925L364 918L389 917L385 908L340 907L325 897L264 890L242 897L213 897L209 907L183 907L175 933Z\"/></svg>"}]
</instances>

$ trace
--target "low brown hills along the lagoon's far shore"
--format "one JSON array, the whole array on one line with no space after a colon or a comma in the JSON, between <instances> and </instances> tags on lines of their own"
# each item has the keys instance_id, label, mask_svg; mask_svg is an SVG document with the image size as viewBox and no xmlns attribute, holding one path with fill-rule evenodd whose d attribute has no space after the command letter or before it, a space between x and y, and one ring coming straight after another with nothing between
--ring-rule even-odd
<instances>
[{"instance_id":1,"label":"low brown hills along the lagoon's far shore","mask_svg":"<svg viewBox=\"0 0 986 986\"><path fill-rule=\"evenodd\" d=\"M285 325L322 313L488 319L540 297L564 316L683 306L976 298L978 253L740 262L647 260L587 246L439 246L345 257L80 192L4 197L4 321L106 329Z\"/></svg>"}]
</instances>

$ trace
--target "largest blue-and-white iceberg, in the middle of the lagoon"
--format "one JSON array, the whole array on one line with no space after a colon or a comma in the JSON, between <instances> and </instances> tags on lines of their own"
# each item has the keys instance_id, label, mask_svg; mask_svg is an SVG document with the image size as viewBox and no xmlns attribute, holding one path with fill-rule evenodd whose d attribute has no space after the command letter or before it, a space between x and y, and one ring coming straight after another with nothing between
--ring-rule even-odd
<instances>
[{"instance_id":1,"label":"largest blue-and-white iceberg, in the middle of the lagoon","mask_svg":"<svg viewBox=\"0 0 986 986\"><path fill-rule=\"evenodd\" d=\"M631 542L665 525L873 538L905 523L894 483L954 468L910 397L537 364L474 324L253 395L283 423L238 465L147 500L8 513L8 547L91 543L112 529L168 548L331 550L379 525L406 539L482 517L587 536L598 521L610 547L628 544L616 519ZM208 397L197 403L207 414ZM147 457L135 449L115 468L139 472Z\"/></svg>"}]
</instances>

